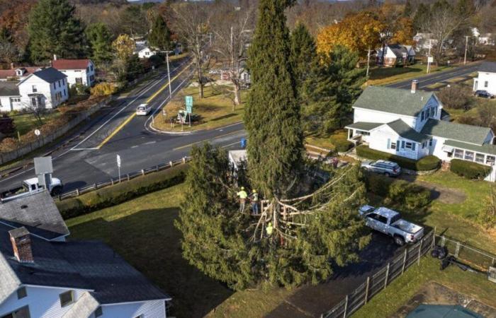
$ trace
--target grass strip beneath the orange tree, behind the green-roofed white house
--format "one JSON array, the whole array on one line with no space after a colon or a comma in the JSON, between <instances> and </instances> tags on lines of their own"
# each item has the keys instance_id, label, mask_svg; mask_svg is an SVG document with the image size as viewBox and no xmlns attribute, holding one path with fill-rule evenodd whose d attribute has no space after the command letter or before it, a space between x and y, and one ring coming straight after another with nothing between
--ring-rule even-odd
<instances>
[{"instance_id":1,"label":"grass strip beneath the orange tree, behind the green-roofed white house","mask_svg":"<svg viewBox=\"0 0 496 318\"><path fill-rule=\"evenodd\" d=\"M452 66L433 66L431 73L446 71ZM369 71L368 85L384 85L405 81L410 78L426 75L427 64L413 64L407 67L371 67Z\"/></svg>"}]
</instances>

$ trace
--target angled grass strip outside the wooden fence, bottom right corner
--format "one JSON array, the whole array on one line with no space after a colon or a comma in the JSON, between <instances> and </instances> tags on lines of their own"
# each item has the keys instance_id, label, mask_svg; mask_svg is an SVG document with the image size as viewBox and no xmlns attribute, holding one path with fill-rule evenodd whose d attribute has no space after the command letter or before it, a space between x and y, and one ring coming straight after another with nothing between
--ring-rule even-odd
<instances>
[{"instance_id":1,"label":"angled grass strip outside the wooden fence, bottom right corner","mask_svg":"<svg viewBox=\"0 0 496 318\"><path fill-rule=\"evenodd\" d=\"M496 303L495 283L487 281L485 275L461 271L456 266L449 266L440 271L439 260L428 256L422 258L420 266L412 265L351 317L391 317L402 305L407 304L423 285L432 281L487 305Z\"/></svg>"}]
</instances>

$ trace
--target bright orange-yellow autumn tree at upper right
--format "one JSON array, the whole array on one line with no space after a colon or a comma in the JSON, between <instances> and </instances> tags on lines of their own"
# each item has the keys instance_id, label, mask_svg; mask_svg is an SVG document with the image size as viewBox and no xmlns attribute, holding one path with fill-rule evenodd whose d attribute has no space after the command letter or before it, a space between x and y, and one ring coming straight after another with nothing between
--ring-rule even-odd
<instances>
[{"instance_id":1,"label":"bright orange-yellow autumn tree at upper right","mask_svg":"<svg viewBox=\"0 0 496 318\"><path fill-rule=\"evenodd\" d=\"M361 11L346 16L317 35L317 52L329 54L333 47L342 45L365 57L367 49L375 49L380 44L381 30L383 23L371 12Z\"/></svg>"}]
</instances>

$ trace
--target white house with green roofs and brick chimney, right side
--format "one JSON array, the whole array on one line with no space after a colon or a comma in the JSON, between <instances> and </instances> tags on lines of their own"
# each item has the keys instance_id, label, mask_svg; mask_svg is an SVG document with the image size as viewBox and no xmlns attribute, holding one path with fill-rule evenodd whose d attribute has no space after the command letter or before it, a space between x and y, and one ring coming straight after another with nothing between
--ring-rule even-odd
<instances>
[{"instance_id":1,"label":"white house with green roofs and brick chimney, right side","mask_svg":"<svg viewBox=\"0 0 496 318\"><path fill-rule=\"evenodd\" d=\"M348 139L385 153L420 159L436 155L494 165L490 128L441 120L443 105L433 92L369 86L354 103Z\"/></svg>"}]
</instances>

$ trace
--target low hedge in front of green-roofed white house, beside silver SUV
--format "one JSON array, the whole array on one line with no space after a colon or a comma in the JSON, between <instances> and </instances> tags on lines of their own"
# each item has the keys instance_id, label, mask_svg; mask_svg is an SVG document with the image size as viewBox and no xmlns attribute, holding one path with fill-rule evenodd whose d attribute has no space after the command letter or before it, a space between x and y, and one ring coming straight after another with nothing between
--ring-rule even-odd
<instances>
[{"instance_id":1,"label":"low hedge in front of green-roofed white house, beside silver SUV","mask_svg":"<svg viewBox=\"0 0 496 318\"><path fill-rule=\"evenodd\" d=\"M376 151L375 149L368 148L368 146L360 145L356 147L356 155L371 160L390 160L398 163L401 167L410 170L434 170L439 168L441 160L435 155L427 155L420 160L413 160L410 158L401 157L400 155L392 155L383 151Z\"/></svg>"}]
</instances>

